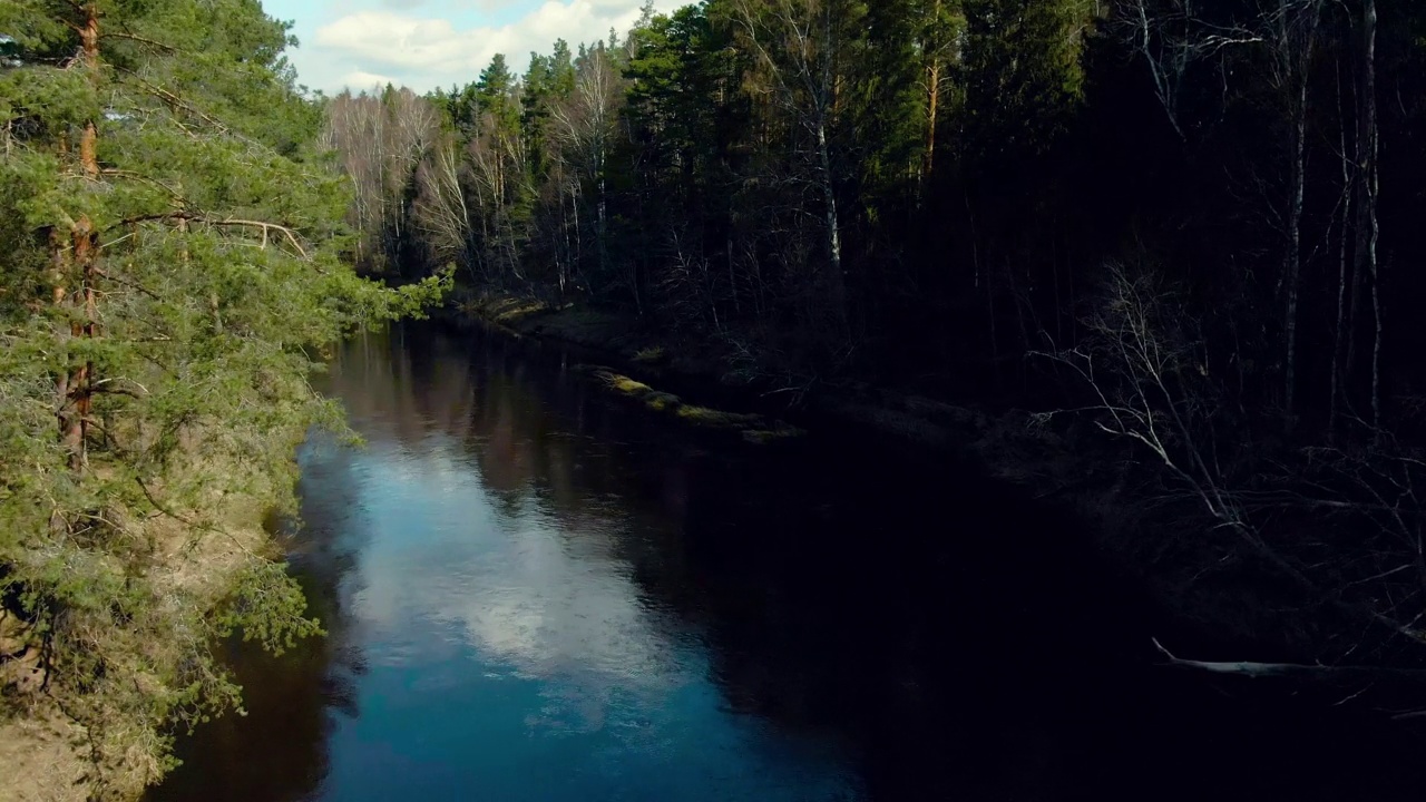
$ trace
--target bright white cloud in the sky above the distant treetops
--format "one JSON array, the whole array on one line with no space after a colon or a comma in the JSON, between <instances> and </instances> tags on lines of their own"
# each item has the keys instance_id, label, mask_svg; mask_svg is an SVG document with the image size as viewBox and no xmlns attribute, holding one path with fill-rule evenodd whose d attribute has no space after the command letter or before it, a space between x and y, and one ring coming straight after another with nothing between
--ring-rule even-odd
<instances>
[{"instance_id":1,"label":"bright white cloud in the sky above the distant treetops","mask_svg":"<svg viewBox=\"0 0 1426 802\"><path fill-rule=\"evenodd\" d=\"M672 11L684 3L656 0L655 6ZM496 53L523 71L530 51L549 53L556 39L575 47L607 37L610 29L623 36L639 19L642 0L545 0L509 24L463 29L448 17L421 16L422 9L412 9L419 3L385 6L318 27L292 54L299 80L327 91L369 88L388 80L426 91L475 80Z\"/></svg>"}]
</instances>

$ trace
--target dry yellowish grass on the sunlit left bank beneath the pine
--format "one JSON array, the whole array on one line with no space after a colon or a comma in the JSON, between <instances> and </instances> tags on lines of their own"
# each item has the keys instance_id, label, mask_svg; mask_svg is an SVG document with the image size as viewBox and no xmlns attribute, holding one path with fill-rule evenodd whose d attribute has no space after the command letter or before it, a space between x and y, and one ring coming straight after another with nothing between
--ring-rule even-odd
<instances>
[{"instance_id":1,"label":"dry yellowish grass on the sunlit left bank beneath the pine","mask_svg":"<svg viewBox=\"0 0 1426 802\"><path fill-rule=\"evenodd\" d=\"M193 460L181 475L202 485L205 478L225 474L231 479L244 471L202 458ZM51 686L53 696L41 694L44 675L37 649L30 652L36 659L27 655L4 666L0 685L6 686L11 716L6 719L0 711L0 766L11 771L0 781L0 801L131 801L163 778L167 722L157 718L153 699L178 691L164 685L163 674L207 654L211 632L193 622L202 621L204 612L227 597L235 575L275 551L261 527L265 504L260 499L271 489L271 479L242 479L250 492L222 495L210 489L185 509L170 509L171 515L130 517L125 535L144 552L151 604L123 628L103 615L94 621L76 616L68 624L70 636L91 644L110 666L90 692L73 695ZM164 498L164 488L151 489ZM118 562L106 569L124 571ZM20 648L20 635L13 622L0 622L6 651Z\"/></svg>"}]
</instances>

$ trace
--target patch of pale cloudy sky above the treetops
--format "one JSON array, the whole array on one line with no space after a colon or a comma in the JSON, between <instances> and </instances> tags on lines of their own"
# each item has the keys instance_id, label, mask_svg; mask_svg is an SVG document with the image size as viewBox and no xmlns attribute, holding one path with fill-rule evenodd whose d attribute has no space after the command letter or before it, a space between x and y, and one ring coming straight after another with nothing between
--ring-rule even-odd
<instances>
[{"instance_id":1,"label":"patch of pale cloudy sky above the treetops","mask_svg":"<svg viewBox=\"0 0 1426 802\"><path fill-rule=\"evenodd\" d=\"M672 11L690 0L653 0ZM335 93L392 83L416 91L466 84L503 53L523 73L556 39L578 47L622 37L643 0L262 0L295 23L298 81Z\"/></svg>"}]
</instances>

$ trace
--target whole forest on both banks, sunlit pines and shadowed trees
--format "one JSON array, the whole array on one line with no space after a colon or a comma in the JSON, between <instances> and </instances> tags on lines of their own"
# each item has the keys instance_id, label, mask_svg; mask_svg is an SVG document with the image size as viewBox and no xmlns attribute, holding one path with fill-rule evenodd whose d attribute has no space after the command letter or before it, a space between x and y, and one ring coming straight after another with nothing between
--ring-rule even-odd
<instances>
[{"instance_id":1,"label":"whole forest on both banks, sunlit pines and shadowed trees","mask_svg":"<svg viewBox=\"0 0 1426 802\"><path fill-rule=\"evenodd\" d=\"M770 398L1028 410L1119 557L1249 656L1420 665L1426 4L589 33L325 96L257 0L0 4L0 762L78 743L133 796L241 709L217 645L321 631L264 531L304 432L344 431L308 380L442 297L619 315Z\"/></svg>"}]
</instances>

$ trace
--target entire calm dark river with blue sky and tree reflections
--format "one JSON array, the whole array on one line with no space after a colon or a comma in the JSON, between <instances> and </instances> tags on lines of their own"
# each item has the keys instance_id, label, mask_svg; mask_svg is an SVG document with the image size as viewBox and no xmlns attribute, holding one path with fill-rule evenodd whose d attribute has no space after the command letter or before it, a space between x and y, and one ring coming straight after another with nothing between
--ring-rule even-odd
<instances>
[{"instance_id":1,"label":"entire calm dark river with blue sky and tree reflections","mask_svg":"<svg viewBox=\"0 0 1426 802\"><path fill-rule=\"evenodd\" d=\"M1423 742L1155 665L1062 517L945 458L653 418L406 325L322 387L291 562L328 636L158 801L1419 799Z\"/></svg>"}]
</instances>

